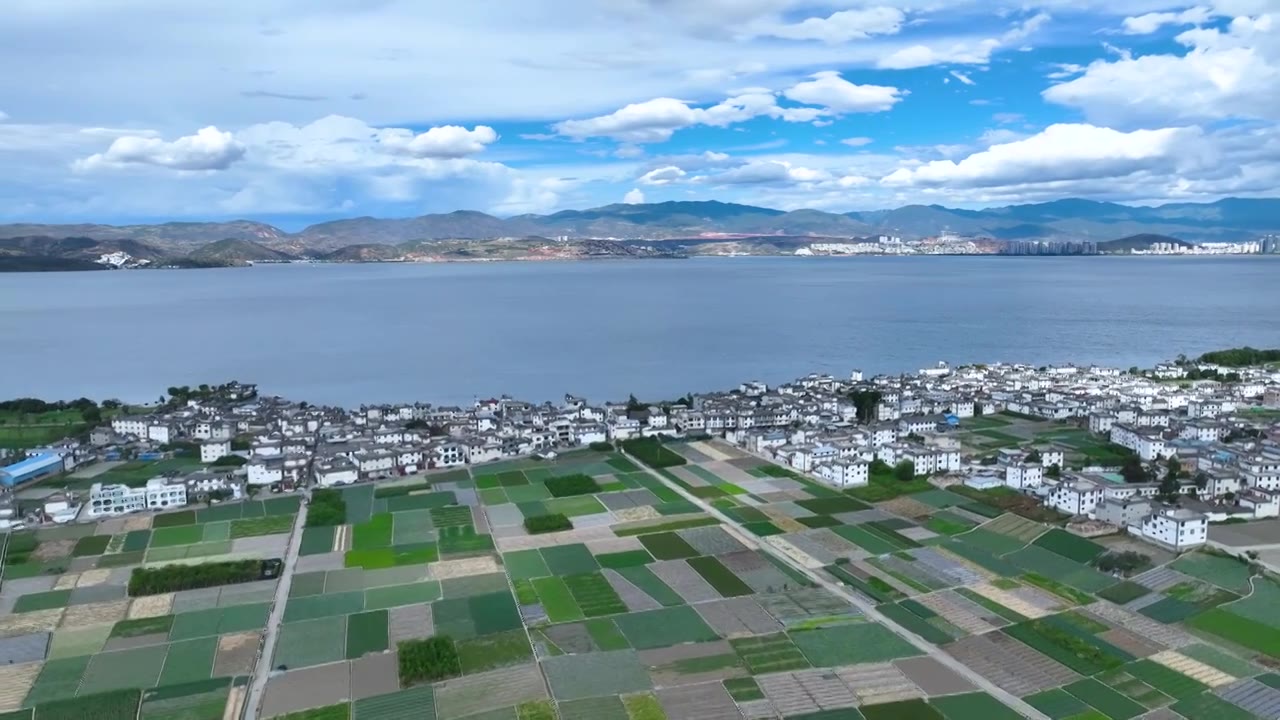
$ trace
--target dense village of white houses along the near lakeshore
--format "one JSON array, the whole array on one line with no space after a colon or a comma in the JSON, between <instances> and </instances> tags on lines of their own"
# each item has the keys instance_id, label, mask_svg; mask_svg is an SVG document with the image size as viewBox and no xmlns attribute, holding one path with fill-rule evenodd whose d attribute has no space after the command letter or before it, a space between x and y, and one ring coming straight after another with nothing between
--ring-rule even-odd
<instances>
[{"instance_id":1,"label":"dense village of white houses along the near lakeshore","mask_svg":"<svg viewBox=\"0 0 1280 720\"><path fill-rule=\"evenodd\" d=\"M99 461L159 460L145 482L99 482L83 493L46 497L35 519L64 523L260 489L554 457L635 437L716 436L841 489L873 482L877 468L909 462L914 475L940 487L1012 488L1103 530L1187 550L1206 542L1208 523L1280 515L1280 424L1267 410L1280 406L1280 372L1233 370L1238 382L1229 383L1187 379L1219 372L1228 369L940 363L906 375L864 378L855 370L778 387L749 382L655 405L591 405L573 396L535 405L504 396L468 407L356 410L259 396L255 386L230 383L114 416L87 443L31 450L0 468L0 483L15 489ZM1018 434L1019 423L1030 429ZM166 462L175 446L189 454L186 462ZM1176 492L1166 478L1170 462L1179 469ZM1139 464L1146 477L1126 477L1125 464ZM32 519L6 514L10 525Z\"/></svg>"}]
</instances>

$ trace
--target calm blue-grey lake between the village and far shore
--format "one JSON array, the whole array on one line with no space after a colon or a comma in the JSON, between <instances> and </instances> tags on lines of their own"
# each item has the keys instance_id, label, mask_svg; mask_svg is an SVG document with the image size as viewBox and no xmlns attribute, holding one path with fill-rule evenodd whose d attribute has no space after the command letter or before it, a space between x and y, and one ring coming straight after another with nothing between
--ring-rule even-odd
<instances>
[{"instance_id":1,"label":"calm blue-grey lake between the village and far shore","mask_svg":"<svg viewBox=\"0 0 1280 720\"><path fill-rule=\"evenodd\" d=\"M938 360L1149 365L1280 346L1263 258L265 265L0 274L0 397L239 379L337 405L666 398Z\"/></svg>"}]
</instances>

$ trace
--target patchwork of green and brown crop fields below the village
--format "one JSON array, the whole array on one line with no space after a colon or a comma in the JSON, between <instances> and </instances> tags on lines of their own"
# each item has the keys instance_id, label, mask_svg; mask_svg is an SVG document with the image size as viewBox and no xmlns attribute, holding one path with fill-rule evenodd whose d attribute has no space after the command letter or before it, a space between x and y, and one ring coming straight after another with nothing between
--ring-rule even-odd
<instances>
[{"instance_id":1,"label":"patchwork of green and brown crop fields below the village","mask_svg":"<svg viewBox=\"0 0 1280 720\"><path fill-rule=\"evenodd\" d=\"M928 483L868 498L719 442L660 451L646 450L655 473L582 451L335 491L325 524L293 538L260 715L1016 716L796 565L1055 719L1230 717L1248 711L1228 688L1268 687L1280 591L1251 594L1235 561L1190 555L1121 580L1089 565L1105 541ZM110 697L122 720L219 720L243 697L275 580L132 597L128 579L283 556L297 510L273 498L12 538L0 711L40 720Z\"/></svg>"}]
</instances>

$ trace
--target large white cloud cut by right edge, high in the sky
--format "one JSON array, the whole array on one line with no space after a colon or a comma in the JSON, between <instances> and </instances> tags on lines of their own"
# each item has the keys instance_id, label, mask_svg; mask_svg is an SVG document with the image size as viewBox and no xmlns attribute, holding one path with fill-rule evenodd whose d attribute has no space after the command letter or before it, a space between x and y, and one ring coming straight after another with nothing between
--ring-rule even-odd
<instances>
[{"instance_id":1,"label":"large white cloud cut by right edge, high in the sky","mask_svg":"<svg viewBox=\"0 0 1280 720\"><path fill-rule=\"evenodd\" d=\"M1043 96L1103 124L1280 119L1280 15L1238 17L1225 31L1190 29L1176 40L1184 55L1096 60Z\"/></svg>"}]
</instances>

